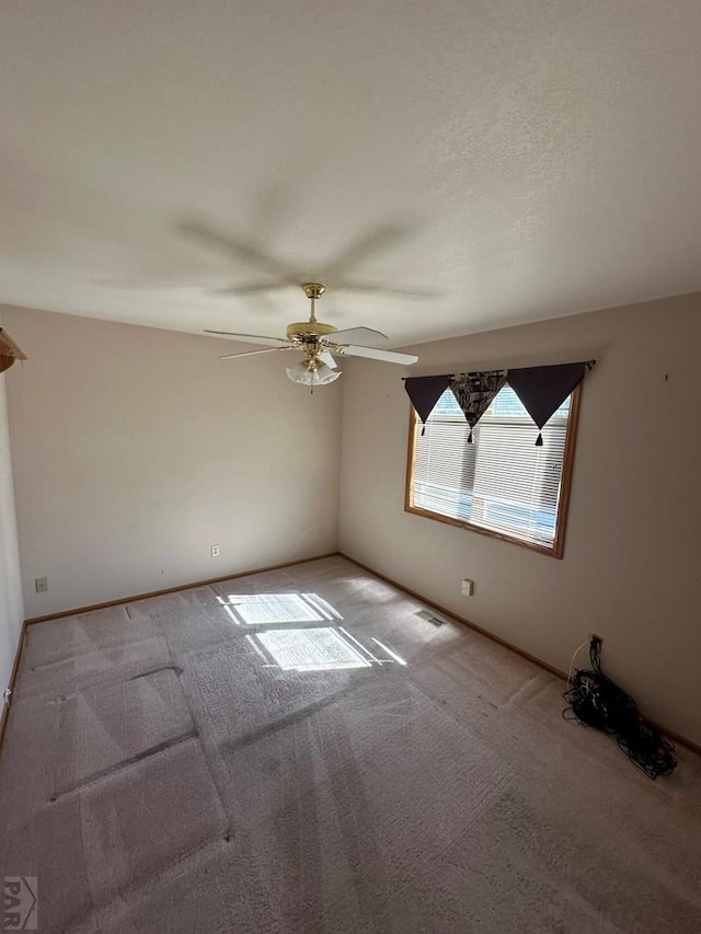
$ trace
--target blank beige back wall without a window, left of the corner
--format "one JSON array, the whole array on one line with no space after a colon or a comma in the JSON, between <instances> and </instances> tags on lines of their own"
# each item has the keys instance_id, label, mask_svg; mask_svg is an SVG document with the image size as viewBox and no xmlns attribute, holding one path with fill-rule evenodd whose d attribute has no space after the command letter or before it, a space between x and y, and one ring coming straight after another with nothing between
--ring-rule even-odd
<instances>
[{"instance_id":1,"label":"blank beige back wall without a window, left of the corner","mask_svg":"<svg viewBox=\"0 0 701 934\"><path fill-rule=\"evenodd\" d=\"M337 384L216 338L4 320L30 357L7 374L27 616L335 550Z\"/></svg>"}]
</instances>

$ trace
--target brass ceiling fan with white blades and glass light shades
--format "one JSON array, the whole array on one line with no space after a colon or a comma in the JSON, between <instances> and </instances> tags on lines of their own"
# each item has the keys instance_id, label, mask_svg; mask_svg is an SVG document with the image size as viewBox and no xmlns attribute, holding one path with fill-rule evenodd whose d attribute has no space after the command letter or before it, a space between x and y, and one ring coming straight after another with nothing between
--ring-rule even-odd
<instances>
[{"instance_id":1,"label":"brass ceiling fan with white blades and glass light shades","mask_svg":"<svg viewBox=\"0 0 701 934\"><path fill-rule=\"evenodd\" d=\"M309 321L296 321L287 327L285 337L267 337L261 334L238 334L234 331L210 331L205 334L219 334L235 337L251 344L267 344L261 350L246 350L242 354L227 354L221 360L233 360L238 357L251 357L253 354L272 354L275 350L301 350L302 359L287 368L287 376L292 382L309 385L325 385L341 376L334 357L368 357L371 360L384 360L388 364L410 366L418 360L414 354L397 354L393 350L380 350L368 344L387 341L387 335L371 327L348 327L338 331L333 324L317 320L317 302L326 291L321 282L304 282L304 295L311 302Z\"/></svg>"}]
</instances>

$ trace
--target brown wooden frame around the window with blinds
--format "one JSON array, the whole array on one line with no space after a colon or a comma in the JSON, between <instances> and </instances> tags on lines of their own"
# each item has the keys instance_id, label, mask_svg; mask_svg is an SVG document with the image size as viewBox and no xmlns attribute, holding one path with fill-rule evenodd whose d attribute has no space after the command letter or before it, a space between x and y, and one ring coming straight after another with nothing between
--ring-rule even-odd
<instances>
[{"instance_id":1,"label":"brown wooden frame around the window with blinds","mask_svg":"<svg viewBox=\"0 0 701 934\"><path fill-rule=\"evenodd\" d=\"M555 537L551 547L539 545L536 542L527 542L519 539L518 535L509 535L506 532L496 532L492 529L485 529L483 526L476 526L473 522L452 519L450 516L443 516L440 512L433 512L429 509L422 509L418 506L413 506L411 503L412 476L414 473L414 457L416 451L416 431L421 427L421 422L416 415L413 405L410 404L409 412L409 445L406 453L406 481L404 487L404 511L413 516L422 516L425 519L434 519L436 522L445 522L447 526L455 526L459 529L467 529L470 532L476 532L480 535L489 535L491 539L501 539L504 542L520 545L539 554L548 555L561 560L564 554L565 529L567 524L567 511L570 507L570 492L572 487L572 473L574 466L574 453L577 441L577 425L579 423L579 396L582 395L582 385L578 385L570 396L570 414L567 416L567 427L565 430L565 449L562 460L562 481L560 486L560 499L558 503L558 520L555 523ZM467 423L466 423L467 424Z\"/></svg>"}]
</instances>

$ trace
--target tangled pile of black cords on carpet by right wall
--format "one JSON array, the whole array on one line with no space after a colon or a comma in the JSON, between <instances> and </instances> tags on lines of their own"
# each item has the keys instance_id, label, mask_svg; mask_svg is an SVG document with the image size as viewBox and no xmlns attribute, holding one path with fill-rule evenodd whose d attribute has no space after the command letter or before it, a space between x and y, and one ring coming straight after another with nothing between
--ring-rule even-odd
<instances>
[{"instance_id":1,"label":"tangled pile of black cords on carpet by right wall","mask_svg":"<svg viewBox=\"0 0 701 934\"><path fill-rule=\"evenodd\" d=\"M585 643L586 644L586 643ZM637 712L635 701L601 671L601 639L589 643L590 670L576 669L564 693L562 715L617 737L618 745L650 779L677 768L674 743Z\"/></svg>"}]
</instances>

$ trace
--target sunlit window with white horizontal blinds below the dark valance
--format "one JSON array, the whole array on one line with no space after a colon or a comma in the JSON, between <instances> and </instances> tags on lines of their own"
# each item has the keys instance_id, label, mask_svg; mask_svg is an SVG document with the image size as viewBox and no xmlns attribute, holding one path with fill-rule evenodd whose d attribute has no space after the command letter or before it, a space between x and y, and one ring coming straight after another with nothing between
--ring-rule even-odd
<instances>
[{"instance_id":1,"label":"sunlit window with white horizontal blinds below the dark valance","mask_svg":"<svg viewBox=\"0 0 701 934\"><path fill-rule=\"evenodd\" d=\"M426 420L414 410L406 510L562 557L579 388L542 429L504 387L470 427L448 389Z\"/></svg>"}]
</instances>

